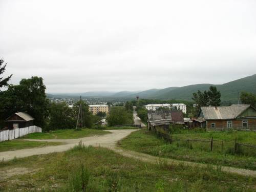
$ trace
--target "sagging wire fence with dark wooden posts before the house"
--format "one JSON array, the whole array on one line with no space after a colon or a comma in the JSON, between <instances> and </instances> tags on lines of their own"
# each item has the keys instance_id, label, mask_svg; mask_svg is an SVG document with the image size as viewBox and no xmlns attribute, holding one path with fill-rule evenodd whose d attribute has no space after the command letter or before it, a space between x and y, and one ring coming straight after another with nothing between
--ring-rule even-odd
<instances>
[{"instance_id":1,"label":"sagging wire fence with dark wooden posts before the house","mask_svg":"<svg viewBox=\"0 0 256 192\"><path fill-rule=\"evenodd\" d=\"M207 152L217 152L232 155L245 155L256 157L256 145L249 143L238 142L237 139L234 140L219 140L211 137L210 139L179 139L173 138L172 135L165 134L156 131L158 137L163 138L170 144L176 144L177 146L185 146L190 149L197 149Z\"/></svg>"}]
</instances>

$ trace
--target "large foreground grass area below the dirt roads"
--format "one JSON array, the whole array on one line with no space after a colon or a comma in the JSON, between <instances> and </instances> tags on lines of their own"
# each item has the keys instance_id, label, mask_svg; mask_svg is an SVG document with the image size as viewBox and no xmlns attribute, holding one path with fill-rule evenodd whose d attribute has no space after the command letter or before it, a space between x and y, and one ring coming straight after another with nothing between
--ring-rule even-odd
<instances>
[{"instance_id":1,"label":"large foreground grass area below the dirt roads","mask_svg":"<svg viewBox=\"0 0 256 192\"><path fill-rule=\"evenodd\" d=\"M2 191L255 191L256 179L184 164L144 163L102 147L81 143L62 153L0 163L30 173L0 179ZM31 170L34 170L32 172ZM6 175L6 174L5 174ZM1 178L1 177L0 177Z\"/></svg>"}]
</instances>

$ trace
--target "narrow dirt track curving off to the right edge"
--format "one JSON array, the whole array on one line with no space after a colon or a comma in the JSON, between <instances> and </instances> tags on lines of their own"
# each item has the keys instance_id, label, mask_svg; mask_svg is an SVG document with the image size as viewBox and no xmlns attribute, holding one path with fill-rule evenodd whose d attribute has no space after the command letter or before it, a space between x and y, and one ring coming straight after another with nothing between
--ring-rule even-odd
<instances>
[{"instance_id":1,"label":"narrow dirt track curving off to the right edge","mask_svg":"<svg viewBox=\"0 0 256 192\"><path fill-rule=\"evenodd\" d=\"M139 153L139 152L124 150L123 148L120 148L120 147L113 147L111 149L113 151L119 153L122 156L131 157L131 158L138 159L138 160L144 161L144 162L150 162L150 163L157 164L160 161L163 161L168 164L184 163L184 165L188 165L188 166L207 167L207 164L203 164L203 163L181 161L181 160L169 159L169 158L160 158L160 157L155 157L155 156L151 156L151 155L147 155L147 154L143 154L143 153ZM212 165L212 166L214 168L217 168L217 165ZM221 170L223 172L234 173L234 174L238 174L238 175L242 175L242 176L256 177L256 170L248 170L248 169L228 167L228 166L222 166Z\"/></svg>"}]
</instances>

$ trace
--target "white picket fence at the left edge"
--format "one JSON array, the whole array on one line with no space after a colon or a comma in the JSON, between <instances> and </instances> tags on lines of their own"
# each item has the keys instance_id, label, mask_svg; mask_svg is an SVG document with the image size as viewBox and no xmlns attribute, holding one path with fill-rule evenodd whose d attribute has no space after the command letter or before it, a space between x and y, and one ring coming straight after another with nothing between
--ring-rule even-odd
<instances>
[{"instance_id":1,"label":"white picket fence at the left edge","mask_svg":"<svg viewBox=\"0 0 256 192\"><path fill-rule=\"evenodd\" d=\"M36 133L36 132L41 133L42 132L41 127L33 125L29 127L20 128L20 129L0 131L0 142L13 140L18 137L22 137L24 135L28 135L30 133Z\"/></svg>"}]
</instances>

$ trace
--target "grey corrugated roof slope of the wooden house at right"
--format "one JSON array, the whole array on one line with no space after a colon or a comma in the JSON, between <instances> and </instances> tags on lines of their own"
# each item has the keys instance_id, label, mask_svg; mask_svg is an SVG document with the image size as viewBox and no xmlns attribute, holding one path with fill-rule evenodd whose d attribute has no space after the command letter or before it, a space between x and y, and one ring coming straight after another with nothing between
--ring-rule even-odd
<instances>
[{"instance_id":1,"label":"grey corrugated roof slope of the wooden house at right","mask_svg":"<svg viewBox=\"0 0 256 192\"><path fill-rule=\"evenodd\" d=\"M234 119L249 108L249 104L233 104L231 106L202 106L205 119Z\"/></svg>"}]
</instances>

